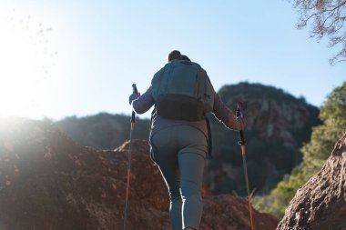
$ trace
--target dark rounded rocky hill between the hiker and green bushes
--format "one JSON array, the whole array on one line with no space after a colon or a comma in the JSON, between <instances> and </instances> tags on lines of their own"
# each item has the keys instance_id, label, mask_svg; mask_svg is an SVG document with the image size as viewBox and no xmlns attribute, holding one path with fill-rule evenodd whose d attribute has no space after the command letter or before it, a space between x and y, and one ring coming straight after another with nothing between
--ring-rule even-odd
<instances>
[{"instance_id":1,"label":"dark rounded rocky hill between the hiker and green bushes","mask_svg":"<svg viewBox=\"0 0 346 230\"><path fill-rule=\"evenodd\" d=\"M260 194L268 193L300 163L301 145L309 141L311 127L320 124L319 110L302 98L267 85L225 85L219 95L232 111L236 111L237 102L243 102L250 187ZM206 184L216 194L234 190L245 195L239 134L211 120L214 151Z\"/></svg>"}]
</instances>

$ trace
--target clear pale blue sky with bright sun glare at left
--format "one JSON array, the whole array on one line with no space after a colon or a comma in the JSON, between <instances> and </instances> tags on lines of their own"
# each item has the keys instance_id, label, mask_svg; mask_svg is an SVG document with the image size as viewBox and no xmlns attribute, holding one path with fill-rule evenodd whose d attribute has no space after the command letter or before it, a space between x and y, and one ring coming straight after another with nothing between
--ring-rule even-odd
<instances>
[{"instance_id":1,"label":"clear pale blue sky with bright sun glare at left","mask_svg":"<svg viewBox=\"0 0 346 230\"><path fill-rule=\"evenodd\" d=\"M2 0L0 116L129 115L131 85L143 93L173 49L217 90L261 83L320 106L346 65L331 66L336 50L297 17L283 0Z\"/></svg>"}]
</instances>

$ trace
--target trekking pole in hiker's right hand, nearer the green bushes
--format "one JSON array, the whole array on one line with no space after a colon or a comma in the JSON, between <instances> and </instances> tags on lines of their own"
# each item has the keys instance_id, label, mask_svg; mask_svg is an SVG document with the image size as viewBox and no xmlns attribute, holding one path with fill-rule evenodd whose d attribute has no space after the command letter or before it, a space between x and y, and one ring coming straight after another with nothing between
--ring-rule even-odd
<instances>
[{"instance_id":1,"label":"trekking pole in hiker's right hand, nearer the green bushes","mask_svg":"<svg viewBox=\"0 0 346 230\"><path fill-rule=\"evenodd\" d=\"M237 112L236 112L237 117L243 117L242 113L242 103L238 102L237 103ZM245 137L243 130L239 131L239 137L240 141L238 142L239 145L241 145L241 155L243 156L243 165L244 165L244 175L245 175L245 184L246 184L246 189L248 192L248 204L249 204L249 222L251 226L251 230L253 230L253 221L252 221L252 209L251 209L251 196L249 194L249 179L248 179L248 167L246 165L246 157L245 157Z\"/></svg>"}]
</instances>

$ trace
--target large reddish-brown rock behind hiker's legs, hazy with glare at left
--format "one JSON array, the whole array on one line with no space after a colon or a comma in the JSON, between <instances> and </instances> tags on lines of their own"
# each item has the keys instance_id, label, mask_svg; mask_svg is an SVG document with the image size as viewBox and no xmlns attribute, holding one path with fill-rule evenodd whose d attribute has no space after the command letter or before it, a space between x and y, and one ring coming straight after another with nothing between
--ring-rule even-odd
<instances>
[{"instance_id":1,"label":"large reddish-brown rock behind hiker's legs, hazy with glare at left","mask_svg":"<svg viewBox=\"0 0 346 230\"><path fill-rule=\"evenodd\" d=\"M0 229L122 229L128 143L113 151L77 145L44 122L0 119ZM133 144L127 229L170 229L168 193L148 143ZM247 202L205 195L201 229L249 229ZM278 220L254 210L255 229Z\"/></svg>"}]
</instances>

